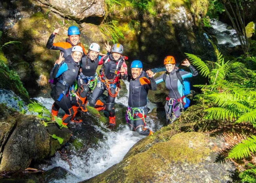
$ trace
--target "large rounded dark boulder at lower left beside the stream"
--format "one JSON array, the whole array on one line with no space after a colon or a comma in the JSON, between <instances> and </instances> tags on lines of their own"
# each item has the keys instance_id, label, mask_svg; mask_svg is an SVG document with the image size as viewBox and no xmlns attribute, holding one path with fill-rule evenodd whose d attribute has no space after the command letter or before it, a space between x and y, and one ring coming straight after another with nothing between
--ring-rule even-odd
<instances>
[{"instance_id":1,"label":"large rounded dark boulder at lower left beside the stream","mask_svg":"<svg viewBox=\"0 0 256 183\"><path fill-rule=\"evenodd\" d=\"M32 115L19 116L16 126L3 149L0 171L27 168L32 159L47 157L50 138L41 120Z\"/></svg>"}]
</instances>

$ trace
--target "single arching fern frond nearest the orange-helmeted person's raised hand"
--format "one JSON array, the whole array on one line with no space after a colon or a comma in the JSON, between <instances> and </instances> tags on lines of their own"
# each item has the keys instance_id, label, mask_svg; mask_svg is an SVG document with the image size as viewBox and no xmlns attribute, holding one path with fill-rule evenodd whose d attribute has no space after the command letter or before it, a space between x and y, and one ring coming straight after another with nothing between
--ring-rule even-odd
<instances>
[{"instance_id":1,"label":"single arching fern frond nearest the orange-helmeted person's raised hand","mask_svg":"<svg viewBox=\"0 0 256 183\"><path fill-rule=\"evenodd\" d=\"M202 76L208 77L210 75L210 70L207 67L207 65L201 60L201 58L193 55L193 54L189 54L189 53L185 53L186 56L189 58L190 62L197 67L197 69L199 70L200 74Z\"/></svg>"}]
</instances>

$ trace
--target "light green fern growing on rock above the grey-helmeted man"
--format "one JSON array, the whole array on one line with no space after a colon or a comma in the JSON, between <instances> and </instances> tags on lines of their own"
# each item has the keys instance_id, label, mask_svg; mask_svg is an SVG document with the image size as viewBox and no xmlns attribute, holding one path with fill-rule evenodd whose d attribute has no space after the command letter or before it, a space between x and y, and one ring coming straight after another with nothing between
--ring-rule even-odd
<instances>
[{"instance_id":1,"label":"light green fern growing on rock above the grey-helmeted man","mask_svg":"<svg viewBox=\"0 0 256 183\"><path fill-rule=\"evenodd\" d=\"M100 25L100 31L111 36L112 42L118 42L118 39L124 39L124 35L121 30L117 27L118 22L116 20L112 20L105 24Z\"/></svg>"}]
</instances>

